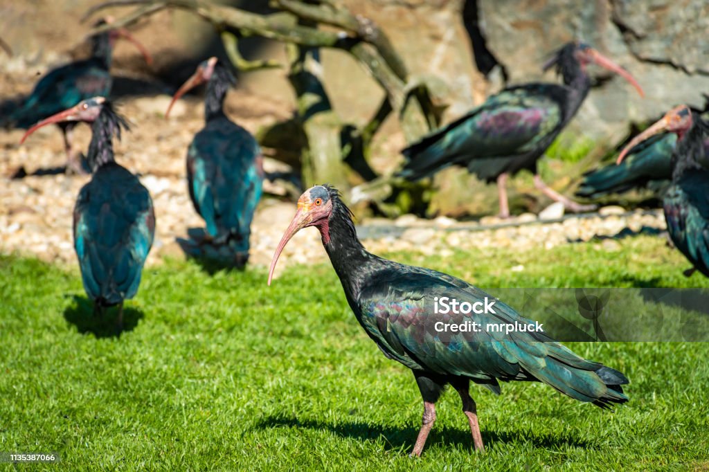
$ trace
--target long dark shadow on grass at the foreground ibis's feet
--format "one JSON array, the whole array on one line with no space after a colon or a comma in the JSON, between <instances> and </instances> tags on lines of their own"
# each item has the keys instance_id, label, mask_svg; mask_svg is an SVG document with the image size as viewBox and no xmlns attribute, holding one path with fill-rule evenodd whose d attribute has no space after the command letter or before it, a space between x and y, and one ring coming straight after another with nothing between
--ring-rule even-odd
<instances>
[{"instance_id":1,"label":"long dark shadow on grass at the foreground ibis's feet","mask_svg":"<svg viewBox=\"0 0 709 472\"><path fill-rule=\"evenodd\" d=\"M379 437L384 437L387 451L393 449L401 449L410 452L413 444L418 436L418 427L397 428L390 426L373 425L364 422L346 422L333 425L328 422L298 420L295 417L279 417L270 416L260 420L257 425L259 429L270 429L277 427L295 427L305 429L320 429L333 432L340 437L349 437L357 440L374 440ZM484 444L493 444L496 442L525 442L531 443L535 447L545 449L557 449L559 447L583 447L586 449L596 449L596 446L579 439L571 437L568 432L560 432L557 434L534 434L529 435L523 431L514 432L492 432L483 429L481 431ZM474 453L473 441L469 430L454 429L452 427L434 427L432 429L426 447L432 444L461 444L470 449L471 454Z\"/></svg>"}]
</instances>

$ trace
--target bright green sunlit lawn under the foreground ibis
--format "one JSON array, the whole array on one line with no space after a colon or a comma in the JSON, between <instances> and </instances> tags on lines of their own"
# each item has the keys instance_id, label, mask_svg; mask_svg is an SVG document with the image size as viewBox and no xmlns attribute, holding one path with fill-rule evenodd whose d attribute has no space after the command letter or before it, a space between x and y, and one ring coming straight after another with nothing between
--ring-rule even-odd
<instances>
[{"instance_id":1,"label":"bright green sunlit lawn under the foreground ibis","mask_svg":"<svg viewBox=\"0 0 709 472\"><path fill-rule=\"evenodd\" d=\"M484 288L709 286L684 278L660 238L620 243L391 257ZM364 334L329 264L270 288L265 275L147 269L116 338L111 320L91 319L77 269L0 258L0 452L57 451L70 470L709 468L707 343L569 343L626 373L630 403L608 412L537 383L500 396L473 386L487 446L476 454L449 392L409 459L423 410L413 376Z\"/></svg>"}]
</instances>

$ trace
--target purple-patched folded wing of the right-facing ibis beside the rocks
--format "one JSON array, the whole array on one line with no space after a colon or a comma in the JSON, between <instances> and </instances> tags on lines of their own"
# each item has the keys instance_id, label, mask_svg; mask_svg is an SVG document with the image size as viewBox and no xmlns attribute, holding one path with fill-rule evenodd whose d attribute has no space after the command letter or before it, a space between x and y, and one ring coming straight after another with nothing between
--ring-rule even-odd
<instances>
[{"instance_id":1,"label":"purple-patched folded wing of the right-facing ibis beside the rocks","mask_svg":"<svg viewBox=\"0 0 709 472\"><path fill-rule=\"evenodd\" d=\"M515 157L535 150L562 125L559 101L538 89L518 87L502 91L462 118L407 147L402 152L408 162L401 175L415 179L450 164Z\"/></svg>"}]
</instances>

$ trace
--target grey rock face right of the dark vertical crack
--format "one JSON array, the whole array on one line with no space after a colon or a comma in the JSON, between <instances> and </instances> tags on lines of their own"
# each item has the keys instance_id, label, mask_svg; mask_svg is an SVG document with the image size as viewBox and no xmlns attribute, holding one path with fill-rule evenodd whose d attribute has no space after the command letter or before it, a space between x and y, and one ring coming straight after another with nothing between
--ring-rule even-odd
<instances>
[{"instance_id":1,"label":"grey rock face right of the dark vertical crack","mask_svg":"<svg viewBox=\"0 0 709 472\"><path fill-rule=\"evenodd\" d=\"M702 93L709 93L706 0L478 0L477 6L486 45L510 83L551 80L551 72L540 70L545 55L579 38L644 88L641 99L620 77L601 80L572 131L613 143L630 122L652 120L678 103L701 106ZM593 74L607 77L598 68Z\"/></svg>"}]
</instances>

